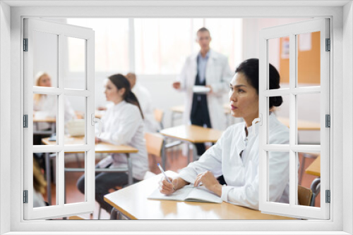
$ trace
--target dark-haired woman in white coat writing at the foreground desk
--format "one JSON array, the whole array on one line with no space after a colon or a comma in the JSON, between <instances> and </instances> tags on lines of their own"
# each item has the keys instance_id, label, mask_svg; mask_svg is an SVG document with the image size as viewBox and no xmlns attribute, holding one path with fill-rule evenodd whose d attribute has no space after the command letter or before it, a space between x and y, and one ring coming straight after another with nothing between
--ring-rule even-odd
<instances>
[{"instance_id":1,"label":"dark-haired woman in white coat writing at the foreground desk","mask_svg":"<svg viewBox=\"0 0 353 235\"><path fill-rule=\"evenodd\" d=\"M179 176L164 178L160 192L171 194L186 184L203 184L223 201L258 210L258 59L244 61L230 82L229 99L234 118L244 122L232 125L217 143L201 158L185 167ZM280 88L280 75L270 65L270 89ZM269 109L282 104L282 96L270 97ZM289 144L289 129L270 113L269 141L271 144ZM256 134L253 135L253 128ZM289 203L289 153L270 152L269 201ZM223 185L217 177L223 176Z\"/></svg>"}]
</instances>

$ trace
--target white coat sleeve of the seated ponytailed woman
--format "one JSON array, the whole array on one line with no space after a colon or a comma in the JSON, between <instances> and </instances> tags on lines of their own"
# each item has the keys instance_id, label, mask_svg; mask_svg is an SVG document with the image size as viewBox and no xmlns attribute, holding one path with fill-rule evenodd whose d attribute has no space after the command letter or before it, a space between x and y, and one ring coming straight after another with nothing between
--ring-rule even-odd
<instances>
[{"instance_id":1,"label":"white coat sleeve of the seated ponytailed woman","mask_svg":"<svg viewBox=\"0 0 353 235\"><path fill-rule=\"evenodd\" d=\"M115 145L126 145L131 142L140 125L141 114L137 106L128 106L121 117L116 120L116 129L104 129L98 137L101 141Z\"/></svg>"}]
</instances>

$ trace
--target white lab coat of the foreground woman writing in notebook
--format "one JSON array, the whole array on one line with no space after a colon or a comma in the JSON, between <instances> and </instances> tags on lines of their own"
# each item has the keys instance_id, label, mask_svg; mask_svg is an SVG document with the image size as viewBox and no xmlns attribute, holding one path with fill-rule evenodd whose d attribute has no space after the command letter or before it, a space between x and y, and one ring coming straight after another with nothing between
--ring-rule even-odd
<instances>
[{"instance_id":1,"label":"white lab coat of the foreground woman writing in notebook","mask_svg":"<svg viewBox=\"0 0 353 235\"><path fill-rule=\"evenodd\" d=\"M270 143L289 144L288 127L274 114L269 124ZM258 125L255 136L253 127L249 127L247 140L245 122L228 127L217 144L181 170L179 176L193 183L196 175L206 170L215 177L223 174L227 185L222 186L222 200L258 210ZM269 174L270 201L289 203L289 153L270 152Z\"/></svg>"}]
</instances>

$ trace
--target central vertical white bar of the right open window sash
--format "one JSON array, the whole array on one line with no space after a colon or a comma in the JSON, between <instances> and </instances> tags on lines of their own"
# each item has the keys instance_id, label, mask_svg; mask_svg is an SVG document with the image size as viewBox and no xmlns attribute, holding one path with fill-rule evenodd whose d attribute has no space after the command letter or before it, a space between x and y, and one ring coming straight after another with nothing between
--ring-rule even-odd
<instances>
[{"instance_id":1,"label":"central vertical white bar of the right open window sash","mask_svg":"<svg viewBox=\"0 0 353 235\"><path fill-rule=\"evenodd\" d=\"M297 43L296 35L289 34L289 89L293 91L297 80ZM297 137L297 106L296 96L289 94L289 146L294 146ZM292 207L296 203L297 187L295 179L295 153L289 151L289 205Z\"/></svg>"}]
</instances>

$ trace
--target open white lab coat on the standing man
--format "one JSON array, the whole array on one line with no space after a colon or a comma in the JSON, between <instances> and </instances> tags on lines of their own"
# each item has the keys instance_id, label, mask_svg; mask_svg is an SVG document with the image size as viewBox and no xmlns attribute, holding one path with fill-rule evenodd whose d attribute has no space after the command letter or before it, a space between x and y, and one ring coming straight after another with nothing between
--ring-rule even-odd
<instances>
[{"instance_id":1,"label":"open white lab coat on the standing man","mask_svg":"<svg viewBox=\"0 0 353 235\"><path fill-rule=\"evenodd\" d=\"M190 123L191 107L193 103L193 86L195 84L198 53L186 58L179 82L181 91L185 91L185 111L184 123ZM211 85L213 93L208 94L208 112L210 113L211 127L224 130L226 128L226 118L223 109L223 95L229 91L229 82L232 80L232 71L229 68L227 57L210 49L210 57L206 65L205 81L206 85Z\"/></svg>"}]
</instances>

